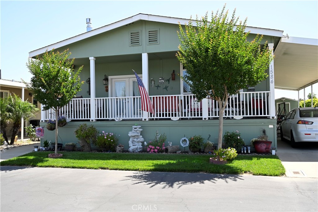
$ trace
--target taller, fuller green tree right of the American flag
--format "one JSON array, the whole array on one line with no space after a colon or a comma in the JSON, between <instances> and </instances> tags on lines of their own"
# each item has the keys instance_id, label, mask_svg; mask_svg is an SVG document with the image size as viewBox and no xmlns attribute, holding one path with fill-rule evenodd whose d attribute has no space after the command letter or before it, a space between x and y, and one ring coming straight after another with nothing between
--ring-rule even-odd
<instances>
[{"instance_id":1,"label":"taller, fuller green tree right of the American flag","mask_svg":"<svg viewBox=\"0 0 318 212\"><path fill-rule=\"evenodd\" d=\"M268 76L266 69L273 60L267 42L261 48L263 36L256 35L249 42L245 32L246 21L228 16L225 6L216 14L208 13L196 21L183 26L179 23L179 51L176 57L185 66L187 74L183 80L190 85L190 91L198 100L215 99L219 107L218 148L222 147L223 112L228 97L255 86Z\"/></svg>"}]
</instances>

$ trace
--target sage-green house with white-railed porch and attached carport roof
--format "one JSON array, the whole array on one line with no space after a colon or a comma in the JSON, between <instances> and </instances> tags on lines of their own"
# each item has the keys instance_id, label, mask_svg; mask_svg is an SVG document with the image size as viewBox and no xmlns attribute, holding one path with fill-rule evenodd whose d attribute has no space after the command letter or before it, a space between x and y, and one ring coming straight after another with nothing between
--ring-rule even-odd
<instances>
[{"instance_id":1,"label":"sage-green house with white-railed porch and attached carport roof","mask_svg":"<svg viewBox=\"0 0 318 212\"><path fill-rule=\"evenodd\" d=\"M194 135L217 143L218 105L210 99L197 102L189 85L178 76L186 73L176 58L178 22L189 20L138 14L91 30L88 19L87 32L29 53L35 58L53 48L60 52L69 49L75 69L84 65L82 91L60 110L71 121L59 128L59 142L76 142L74 130L87 123L100 131L120 134L119 142L125 149L128 132L135 124L142 126L145 141L153 139L158 130L166 133L173 145ZM247 27L246 31L251 31L249 40L256 34L264 35L262 42L268 41L275 58L265 81L230 97L223 132L239 130L249 145L265 129L272 146L277 147L274 88L297 90L318 80L317 40L287 38L283 31L257 27ZM132 69L149 92L155 116L141 110ZM55 119L53 111L43 111L41 126L49 119ZM45 130L45 139L54 140L54 131Z\"/></svg>"}]
</instances>

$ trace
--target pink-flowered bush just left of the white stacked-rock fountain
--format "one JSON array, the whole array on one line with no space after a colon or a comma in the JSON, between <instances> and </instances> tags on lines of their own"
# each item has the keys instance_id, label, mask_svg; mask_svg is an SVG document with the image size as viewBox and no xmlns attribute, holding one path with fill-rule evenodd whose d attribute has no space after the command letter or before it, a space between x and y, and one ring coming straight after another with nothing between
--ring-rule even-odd
<instances>
[{"instance_id":1,"label":"pink-flowered bush just left of the white stacked-rock fountain","mask_svg":"<svg viewBox=\"0 0 318 212\"><path fill-rule=\"evenodd\" d=\"M120 135L119 135L120 136ZM103 151L115 151L119 139L114 133L106 133L102 131L97 136L96 146L98 146Z\"/></svg>"}]
</instances>

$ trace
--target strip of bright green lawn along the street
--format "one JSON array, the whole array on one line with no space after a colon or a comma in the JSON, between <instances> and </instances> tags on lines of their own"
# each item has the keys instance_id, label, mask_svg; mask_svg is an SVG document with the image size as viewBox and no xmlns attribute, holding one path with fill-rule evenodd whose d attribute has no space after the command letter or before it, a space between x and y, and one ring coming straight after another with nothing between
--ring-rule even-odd
<instances>
[{"instance_id":1,"label":"strip of bright green lawn along the street","mask_svg":"<svg viewBox=\"0 0 318 212\"><path fill-rule=\"evenodd\" d=\"M225 165L209 163L207 154L129 154L61 152L63 158L51 159L53 152L31 152L0 163L1 166L87 168L159 172L205 172L281 176L285 168L275 155L238 155Z\"/></svg>"}]
</instances>

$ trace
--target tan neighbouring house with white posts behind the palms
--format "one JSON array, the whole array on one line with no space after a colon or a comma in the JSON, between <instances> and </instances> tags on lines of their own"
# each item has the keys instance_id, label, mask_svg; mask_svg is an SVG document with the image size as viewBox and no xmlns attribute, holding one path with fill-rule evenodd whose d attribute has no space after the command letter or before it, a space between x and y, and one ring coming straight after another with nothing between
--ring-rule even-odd
<instances>
[{"instance_id":1,"label":"tan neighbouring house with white posts behind the palms","mask_svg":"<svg viewBox=\"0 0 318 212\"><path fill-rule=\"evenodd\" d=\"M26 85L23 82L16 81L16 80L8 80L8 79L0 79L0 97L5 98L9 95L16 94L24 101L31 102L35 104L38 108L40 108L40 104L36 99L33 99L32 93L28 90ZM33 116L28 117L21 123L21 128L24 129L25 126L28 126L30 122L39 123L41 119L41 112L35 112ZM7 127L7 135L11 136L11 128L12 123L8 124ZM23 134L25 131L21 132L21 138L23 139Z\"/></svg>"}]
</instances>

